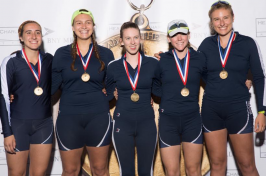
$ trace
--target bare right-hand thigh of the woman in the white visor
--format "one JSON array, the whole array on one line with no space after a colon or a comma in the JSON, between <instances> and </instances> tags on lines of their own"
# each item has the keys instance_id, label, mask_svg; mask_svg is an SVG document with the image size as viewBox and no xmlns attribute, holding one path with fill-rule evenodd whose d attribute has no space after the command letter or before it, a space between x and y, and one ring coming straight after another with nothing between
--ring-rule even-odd
<instances>
[{"instance_id":1,"label":"bare right-hand thigh of the woman in the white visor","mask_svg":"<svg viewBox=\"0 0 266 176\"><path fill-rule=\"evenodd\" d=\"M187 168L197 168L200 170L203 145L183 142L182 147L185 166Z\"/></svg>"}]
</instances>

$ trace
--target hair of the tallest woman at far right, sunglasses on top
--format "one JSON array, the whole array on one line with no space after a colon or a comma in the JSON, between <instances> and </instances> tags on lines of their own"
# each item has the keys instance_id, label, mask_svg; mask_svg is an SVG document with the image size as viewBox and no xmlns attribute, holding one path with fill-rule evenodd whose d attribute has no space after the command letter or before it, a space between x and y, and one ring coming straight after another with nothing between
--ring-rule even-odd
<instances>
[{"instance_id":1,"label":"hair of the tallest woman at far right, sunglasses on top","mask_svg":"<svg viewBox=\"0 0 266 176\"><path fill-rule=\"evenodd\" d=\"M234 12L233 12L232 6L230 4L225 4L225 3L222 3L222 2L218 2L215 5L212 5L211 9L209 10L209 18L210 18L209 27L210 27L211 35L217 34L217 32L214 30L213 25L212 25L212 13L215 10L218 10L218 9L229 10L231 15L232 15L232 17L234 17Z\"/></svg>"}]
</instances>

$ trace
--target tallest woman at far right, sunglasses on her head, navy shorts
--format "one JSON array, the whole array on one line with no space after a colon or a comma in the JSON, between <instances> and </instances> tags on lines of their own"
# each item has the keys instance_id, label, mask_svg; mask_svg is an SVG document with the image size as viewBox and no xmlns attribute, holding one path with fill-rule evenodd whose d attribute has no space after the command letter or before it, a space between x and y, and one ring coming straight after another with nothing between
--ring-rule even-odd
<instances>
[{"instance_id":1,"label":"tallest woman at far right, sunglasses on her head, navy shorts","mask_svg":"<svg viewBox=\"0 0 266 176\"><path fill-rule=\"evenodd\" d=\"M262 58L253 39L233 30L234 13L226 1L215 2L210 24L216 35L206 38L199 51L207 60L207 84L202 105L204 138L211 175L226 174L227 136L244 176L257 176L254 159L253 115L245 80L253 74L258 116L255 132L265 130L266 87Z\"/></svg>"}]
</instances>

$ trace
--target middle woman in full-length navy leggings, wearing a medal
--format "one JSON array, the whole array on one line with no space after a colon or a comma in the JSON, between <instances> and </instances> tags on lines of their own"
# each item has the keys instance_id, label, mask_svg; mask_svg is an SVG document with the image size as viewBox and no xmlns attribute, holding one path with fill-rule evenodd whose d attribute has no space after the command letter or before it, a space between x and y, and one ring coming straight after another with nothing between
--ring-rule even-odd
<instances>
[{"instance_id":1,"label":"middle woman in full-length navy leggings, wearing a medal","mask_svg":"<svg viewBox=\"0 0 266 176\"><path fill-rule=\"evenodd\" d=\"M138 25L126 22L120 29L123 56L108 65L106 88L109 100L114 87L119 92L113 121L113 145L121 176L135 176L135 146L138 175L153 175L153 157L157 142L151 86L158 61L140 51ZM115 84L114 84L115 83Z\"/></svg>"}]
</instances>

